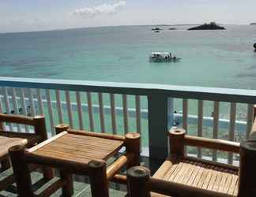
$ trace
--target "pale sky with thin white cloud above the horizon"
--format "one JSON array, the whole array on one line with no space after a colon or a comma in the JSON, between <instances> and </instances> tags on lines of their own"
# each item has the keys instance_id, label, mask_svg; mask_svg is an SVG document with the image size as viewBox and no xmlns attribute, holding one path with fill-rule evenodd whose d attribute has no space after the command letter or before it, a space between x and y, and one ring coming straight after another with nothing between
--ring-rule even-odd
<instances>
[{"instance_id":1,"label":"pale sky with thin white cloud above the horizon","mask_svg":"<svg viewBox=\"0 0 256 197\"><path fill-rule=\"evenodd\" d=\"M250 24L256 0L1 0L0 32L141 24Z\"/></svg>"}]
</instances>

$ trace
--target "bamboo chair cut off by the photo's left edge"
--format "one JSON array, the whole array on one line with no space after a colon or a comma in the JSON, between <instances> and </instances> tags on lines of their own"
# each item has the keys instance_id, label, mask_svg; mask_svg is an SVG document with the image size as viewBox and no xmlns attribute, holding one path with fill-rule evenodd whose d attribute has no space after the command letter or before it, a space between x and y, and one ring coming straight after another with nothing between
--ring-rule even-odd
<instances>
[{"instance_id":1,"label":"bamboo chair cut off by the photo's left edge","mask_svg":"<svg viewBox=\"0 0 256 197\"><path fill-rule=\"evenodd\" d=\"M31 125L34 127L35 133L13 132L4 130L3 123L15 123L22 125ZM9 115L0 113L0 162L2 172L10 168L9 163L9 147L14 145L24 145L25 147L33 147L37 143L47 139L47 131L45 127L44 116L25 117L20 115ZM52 170L43 168L43 177L49 180L53 177ZM13 175L9 175L0 181L0 191L5 190L10 184L15 182Z\"/></svg>"}]
</instances>

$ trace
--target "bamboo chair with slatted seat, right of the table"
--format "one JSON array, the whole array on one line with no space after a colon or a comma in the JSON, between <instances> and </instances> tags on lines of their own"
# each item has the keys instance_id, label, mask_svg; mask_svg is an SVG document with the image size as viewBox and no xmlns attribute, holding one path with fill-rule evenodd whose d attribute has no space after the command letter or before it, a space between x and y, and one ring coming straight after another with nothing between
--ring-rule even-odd
<instances>
[{"instance_id":1,"label":"bamboo chair with slatted seat, right of the table","mask_svg":"<svg viewBox=\"0 0 256 197\"><path fill-rule=\"evenodd\" d=\"M184 129L175 128L169 132L169 143L169 158L152 177L149 169L141 166L128 170L130 197L256 196L255 140L240 144L222 139L206 139L187 136ZM239 167L187 157L184 154L185 145L239 153Z\"/></svg>"}]
</instances>

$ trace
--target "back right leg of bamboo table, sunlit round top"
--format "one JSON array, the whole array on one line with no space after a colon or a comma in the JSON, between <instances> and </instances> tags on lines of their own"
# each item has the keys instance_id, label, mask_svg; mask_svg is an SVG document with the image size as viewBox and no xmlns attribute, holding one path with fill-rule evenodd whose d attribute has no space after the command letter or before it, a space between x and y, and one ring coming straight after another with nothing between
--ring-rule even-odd
<instances>
[{"instance_id":1,"label":"back right leg of bamboo table, sunlit round top","mask_svg":"<svg viewBox=\"0 0 256 197\"><path fill-rule=\"evenodd\" d=\"M140 165L140 148L141 148L141 135L137 132L130 132L126 134L126 151L132 152L134 158L127 165L127 169L130 167Z\"/></svg>"}]
</instances>

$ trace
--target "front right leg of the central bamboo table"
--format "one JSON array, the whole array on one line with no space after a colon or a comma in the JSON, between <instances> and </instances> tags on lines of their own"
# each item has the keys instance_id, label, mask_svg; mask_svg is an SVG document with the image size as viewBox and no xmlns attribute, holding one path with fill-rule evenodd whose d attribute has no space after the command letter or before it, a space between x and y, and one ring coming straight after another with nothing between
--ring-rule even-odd
<instances>
[{"instance_id":1,"label":"front right leg of the central bamboo table","mask_svg":"<svg viewBox=\"0 0 256 197\"><path fill-rule=\"evenodd\" d=\"M92 197L108 197L106 162L91 161L88 167Z\"/></svg>"}]
</instances>

